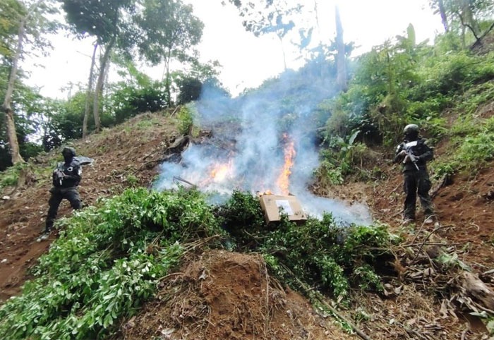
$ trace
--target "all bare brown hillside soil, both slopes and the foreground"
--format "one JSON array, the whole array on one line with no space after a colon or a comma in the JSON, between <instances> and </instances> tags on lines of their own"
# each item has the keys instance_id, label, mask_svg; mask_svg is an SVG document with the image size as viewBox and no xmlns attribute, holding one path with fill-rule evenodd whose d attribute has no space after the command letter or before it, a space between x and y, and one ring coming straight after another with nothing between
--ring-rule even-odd
<instances>
[{"instance_id":1,"label":"all bare brown hillside soil, both slopes and the foreground","mask_svg":"<svg viewBox=\"0 0 494 340\"><path fill-rule=\"evenodd\" d=\"M492 105L485 118L493 116ZM179 154L187 138L179 133L171 112L142 114L121 126L78 140L78 154L95 159L83 170L80 195L86 206L100 204L126 188L148 188L164 159ZM203 142L207 133L199 133ZM447 140L437 157L445 153ZM382 263L383 294L351 291L349 305L335 305L368 339L487 339L486 327L469 313L488 310L492 296L471 296L462 280L461 266L470 266L487 285L494 284L493 190L494 170L487 167L473 178L454 176L439 188L435 181L434 205L440 224L414 229L400 225L402 177L390 162L390 150L373 150L372 166L382 174L370 182L344 186L318 186L315 193L369 206L373 219L389 224L403 237L391 249L394 262ZM29 165L25 185L4 188L1 201L0 287L5 301L32 278L28 269L49 250L58 236L36 243L47 212L49 177L55 152L37 157ZM195 180L195 178L187 178ZM301 202L303 205L303 202ZM59 217L70 216L64 202ZM152 250L151 250L152 251ZM438 261L448 255L450 262ZM443 259L444 260L444 259ZM456 265L455 265L456 264ZM463 287L463 289L462 289ZM488 287L488 286L486 286ZM342 327L341 320L311 308L303 297L267 272L258 254L211 250L193 245L175 272L159 281L154 300L138 315L120 320L116 339L359 339ZM310 295L310 294L309 294ZM484 300L482 300L484 299ZM330 300L326 300L331 304ZM339 320L339 321L338 321ZM363 337L363 336L362 336Z\"/></svg>"}]
</instances>

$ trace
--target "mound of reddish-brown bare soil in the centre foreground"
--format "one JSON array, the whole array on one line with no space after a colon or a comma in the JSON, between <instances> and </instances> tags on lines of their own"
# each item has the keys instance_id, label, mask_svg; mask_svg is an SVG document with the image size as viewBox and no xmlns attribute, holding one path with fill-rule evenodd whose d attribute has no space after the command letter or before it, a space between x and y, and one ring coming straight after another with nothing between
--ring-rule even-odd
<instances>
[{"instance_id":1,"label":"mound of reddish-brown bare soil in the centre foreground","mask_svg":"<svg viewBox=\"0 0 494 340\"><path fill-rule=\"evenodd\" d=\"M354 339L267 273L260 255L212 250L162 281L123 339Z\"/></svg>"}]
</instances>

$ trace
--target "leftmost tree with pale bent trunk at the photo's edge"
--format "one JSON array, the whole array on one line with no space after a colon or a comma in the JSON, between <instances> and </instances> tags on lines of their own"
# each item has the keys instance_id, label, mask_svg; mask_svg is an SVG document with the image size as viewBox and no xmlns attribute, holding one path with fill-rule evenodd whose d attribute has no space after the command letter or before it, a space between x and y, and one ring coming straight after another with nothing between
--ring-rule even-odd
<instances>
[{"instance_id":1,"label":"leftmost tree with pale bent trunk at the photo's edge","mask_svg":"<svg viewBox=\"0 0 494 340\"><path fill-rule=\"evenodd\" d=\"M8 0L3 2L1 6L2 21L7 26L6 32L12 33L16 30L16 38L8 34L4 35L1 50L3 51L2 56L8 61L11 68L8 75L2 110L5 112L6 130L12 163L17 164L24 162L19 152L16 123L12 107L12 95L18 78L19 61L25 54L25 42L28 42L32 49L44 49L47 46L47 42L42 35L45 32L56 29L56 23L48 20L46 15L54 13L55 10L52 6L52 1L43 0L27 0L25 2Z\"/></svg>"}]
</instances>

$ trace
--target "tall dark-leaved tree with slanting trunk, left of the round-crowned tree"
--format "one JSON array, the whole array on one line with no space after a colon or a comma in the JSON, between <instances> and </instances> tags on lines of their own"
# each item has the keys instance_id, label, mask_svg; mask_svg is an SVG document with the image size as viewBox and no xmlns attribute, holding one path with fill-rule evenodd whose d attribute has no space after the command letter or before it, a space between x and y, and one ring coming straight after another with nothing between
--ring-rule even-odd
<instances>
[{"instance_id":1,"label":"tall dark-leaved tree with slanting trunk, left of the round-crowned tree","mask_svg":"<svg viewBox=\"0 0 494 340\"><path fill-rule=\"evenodd\" d=\"M90 34L97 38L97 45L104 49L93 99L93 115L96 131L100 131L100 95L104 76L109 65L112 49L130 49L132 45L132 14L135 0L61 0L67 22L80 35ZM89 86L89 85L88 85Z\"/></svg>"}]
</instances>

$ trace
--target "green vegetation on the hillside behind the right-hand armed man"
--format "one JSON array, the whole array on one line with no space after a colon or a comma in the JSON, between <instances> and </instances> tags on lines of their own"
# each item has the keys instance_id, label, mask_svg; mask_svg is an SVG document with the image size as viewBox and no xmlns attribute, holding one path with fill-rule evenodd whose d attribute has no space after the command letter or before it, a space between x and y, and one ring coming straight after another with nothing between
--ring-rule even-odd
<instances>
[{"instance_id":1,"label":"green vegetation on the hillside behind the right-hand armed man","mask_svg":"<svg viewBox=\"0 0 494 340\"><path fill-rule=\"evenodd\" d=\"M492 101L493 52L455 46L452 33L438 37L435 46L402 37L360 56L348 91L320 104L330 114L322 133L327 148L319 175L342 183L361 161L347 158L349 147L356 151L360 142L383 144L392 152L408 123L418 124L431 145L452 141L452 150L433 163L439 176L475 173L486 166L492 159L492 123L479 112Z\"/></svg>"}]
</instances>

